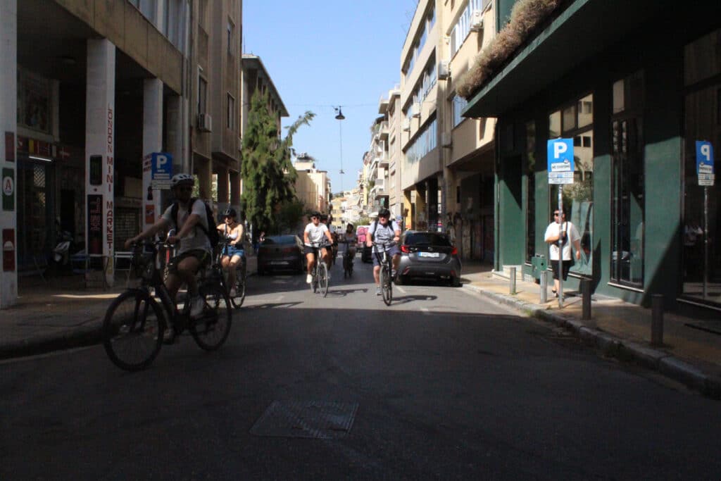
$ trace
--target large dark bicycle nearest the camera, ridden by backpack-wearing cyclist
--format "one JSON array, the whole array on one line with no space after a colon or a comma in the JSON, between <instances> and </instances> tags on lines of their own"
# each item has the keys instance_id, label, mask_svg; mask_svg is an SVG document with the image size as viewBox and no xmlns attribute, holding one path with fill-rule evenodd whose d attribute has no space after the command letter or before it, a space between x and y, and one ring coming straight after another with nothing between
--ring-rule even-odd
<instances>
[{"instance_id":1,"label":"large dark bicycle nearest the camera, ridden by backpack-wearing cyclist","mask_svg":"<svg viewBox=\"0 0 721 481\"><path fill-rule=\"evenodd\" d=\"M164 332L170 325L174 340L185 329L203 350L216 350L230 333L232 312L225 288L214 270L205 276L201 270L198 293L205 305L198 319L190 317L190 302L185 299L178 310L170 298L158 268L162 241L133 244L131 269L139 281L138 287L128 287L107 308L102 322L102 344L110 361L126 371L140 371L150 366L164 342ZM153 289L154 294L151 294Z\"/></svg>"}]
</instances>

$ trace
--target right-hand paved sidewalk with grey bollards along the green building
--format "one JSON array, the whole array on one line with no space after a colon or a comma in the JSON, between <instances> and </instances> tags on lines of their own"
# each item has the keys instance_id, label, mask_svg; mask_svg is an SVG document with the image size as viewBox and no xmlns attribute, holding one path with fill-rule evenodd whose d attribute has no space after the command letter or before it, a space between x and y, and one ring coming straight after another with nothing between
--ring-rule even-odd
<instances>
[{"instance_id":1,"label":"right-hand paved sidewalk with grey bollards along the green building","mask_svg":"<svg viewBox=\"0 0 721 481\"><path fill-rule=\"evenodd\" d=\"M593 295L591 319L583 321L578 291L566 292L559 309L550 287L545 304L540 302L541 287L536 283L517 281L516 295L510 295L510 280L492 273L487 264L464 264L463 278L464 288L564 327L606 355L640 363L721 399L721 323L664 312L663 346L652 347L651 309Z\"/></svg>"}]
</instances>

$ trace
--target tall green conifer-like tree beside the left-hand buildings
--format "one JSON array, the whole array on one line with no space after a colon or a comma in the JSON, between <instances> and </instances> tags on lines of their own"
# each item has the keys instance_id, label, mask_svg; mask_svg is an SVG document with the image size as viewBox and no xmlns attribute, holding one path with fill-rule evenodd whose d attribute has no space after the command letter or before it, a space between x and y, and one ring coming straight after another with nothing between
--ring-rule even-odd
<instances>
[{"instance_id":1,"label":"tall green conifer-like tree beside the left-hand buildings","mask_svg":"<svg viewBox=\"0 0 721 481\"><path fill-rule=\"evenodd\" d=\"M278 123L268 109L268 94L256 90L250 101L248 124L243 136L242 203L245 216L255 230L275 227L280 204L295 200L296 169L289 148L301 125L310 125L315 114L306 112L288 127L281 138Z\"/></svg>"}]
</instances>

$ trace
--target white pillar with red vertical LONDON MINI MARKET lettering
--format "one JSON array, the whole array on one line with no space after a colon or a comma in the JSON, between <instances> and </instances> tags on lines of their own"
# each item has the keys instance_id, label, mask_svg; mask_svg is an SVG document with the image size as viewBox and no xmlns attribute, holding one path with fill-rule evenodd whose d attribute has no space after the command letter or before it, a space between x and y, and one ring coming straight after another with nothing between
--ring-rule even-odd
<instances>
[{"instance_id":1,"label":"white pillar with red vertical LONDON MINI MARKET lettering","mask_svg":"<svg viewBox=\"0 0 721 481\"><path fill-rule=\"evenodd\" d=\"M105 281L112 287L115 283L115 45L106 39L92 39L87 43L85 190L88 228L85 245L90 257L102 257Z\"/></svg>"}]
</instances>

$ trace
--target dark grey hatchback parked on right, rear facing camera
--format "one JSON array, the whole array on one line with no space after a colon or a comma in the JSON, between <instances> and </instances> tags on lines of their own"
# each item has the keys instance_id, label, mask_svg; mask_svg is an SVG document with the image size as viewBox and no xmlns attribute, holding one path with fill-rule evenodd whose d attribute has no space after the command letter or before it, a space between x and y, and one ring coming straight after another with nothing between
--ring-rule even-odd
<instances>
[{"instance_id":1,"label":"dark grey hatchback parked on right, rear facing camera","mask_svg":"<svg viewBox=\"0 0 721 481\"><path fill-rule=\"evenodd\" d=\"M405 231L399 242L401 260L396 283L430 278L461 285L461 260L448 235L441 232Z\"/></svg>"}]
</instances>

